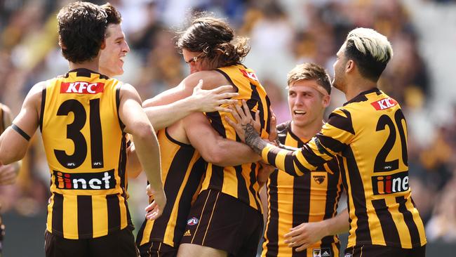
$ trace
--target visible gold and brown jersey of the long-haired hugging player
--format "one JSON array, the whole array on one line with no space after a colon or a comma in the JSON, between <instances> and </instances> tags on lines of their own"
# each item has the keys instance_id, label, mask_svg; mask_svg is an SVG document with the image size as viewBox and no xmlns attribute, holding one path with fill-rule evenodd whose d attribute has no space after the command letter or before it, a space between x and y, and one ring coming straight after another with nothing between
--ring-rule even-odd
<instances>
[{"instance_id":1,"label":"visible gold and brown jersey of the long-haired hugging player","mask_svg":"<svg viewBox=\"0 0 456 257\"><path fill-rule=\"evenodd\" d=\"M269 135L269 118L271 117L271 114L269 114L270 103L266 91L264 91L258 81L255 72L240 64L219 68L217 72L223 74L239 93L233 99L246 100L252 115L255 115L254 112L257 110L260 112L261 136L267 138ZM206 113L206 116L210 119L213 128L222 137L240 141L236 131L224 119L225 116L232 118L232 114L227 112L209 112ZM231 167L208 164L201 190L210 188L221 191L224 194L240 199L258 211L262 211L258 194L260 186L256 178L258 169L259 165L257 163Z\"/></svg>"}]
</instances>

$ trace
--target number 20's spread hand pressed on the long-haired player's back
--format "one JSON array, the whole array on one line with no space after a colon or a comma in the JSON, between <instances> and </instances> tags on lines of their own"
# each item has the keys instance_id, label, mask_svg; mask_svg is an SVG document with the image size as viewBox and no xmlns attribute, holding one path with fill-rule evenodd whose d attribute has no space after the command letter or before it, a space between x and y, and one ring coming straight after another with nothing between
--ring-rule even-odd
<instances>
[{"instance_id":1,"label":"number 20's spread hand pressed on the long-haired player's back","mask_svg":"<svg viewBox=\"0 0 456 257\"><path fill-rule=\"evenodd\" d=\"M246 100L242 100L242 108L239 107L239 105L232 105L230 108L233 110L232 114L234 119L236 119L236 122L227 116L225 116L225 120L234 128L242 142L246 142L246 131L244 127L247 124L251 124L253 129L260 133L260 112L255 112L255 119L253 119L252 114L250 114L250 109L248 109Z\"/></svg>"}]
</instances>

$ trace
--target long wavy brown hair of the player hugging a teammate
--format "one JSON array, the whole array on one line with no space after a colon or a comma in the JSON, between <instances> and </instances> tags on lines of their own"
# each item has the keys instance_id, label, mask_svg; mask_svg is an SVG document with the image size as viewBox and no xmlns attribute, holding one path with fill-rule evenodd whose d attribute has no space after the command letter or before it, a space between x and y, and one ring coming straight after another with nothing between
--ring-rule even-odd
<instances>
[{"instance_id":1,"label":"long wavy brown hair of the player hugging a teammate","mask_svg":"<svg viewBox=\"0 0 456 257\"><path fill-rule=\"evenodd\" d=\"M236 37L234 30L222 19L214 18L207 13L194 15L191 25L179 32L176 46L180 51L201 52L201 57L215 62L216 67L225 67L241 63L250 51L248 39Z\"/></svg>"}]
</instances>

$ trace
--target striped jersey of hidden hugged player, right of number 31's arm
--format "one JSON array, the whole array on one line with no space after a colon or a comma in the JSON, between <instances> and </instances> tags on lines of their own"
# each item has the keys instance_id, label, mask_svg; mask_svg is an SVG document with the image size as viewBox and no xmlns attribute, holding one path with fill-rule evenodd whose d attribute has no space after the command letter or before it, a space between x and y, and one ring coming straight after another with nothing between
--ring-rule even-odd
<instances>
[{"instance_id":1,"label":"striped jersey of hidden hugged player, right of number 31's arm","mask_svg":"<svg viewBox=\"0 0 456 257\"><path fill-rule=\"evenodd\" d=\"M144 220L136 244L163 242L177 247L184 235L192 199L199 192L205 162L192 145L171 138L166 129L159 131L157 138L166 206L160 218Z\"/></svg>"}]
</instances>

